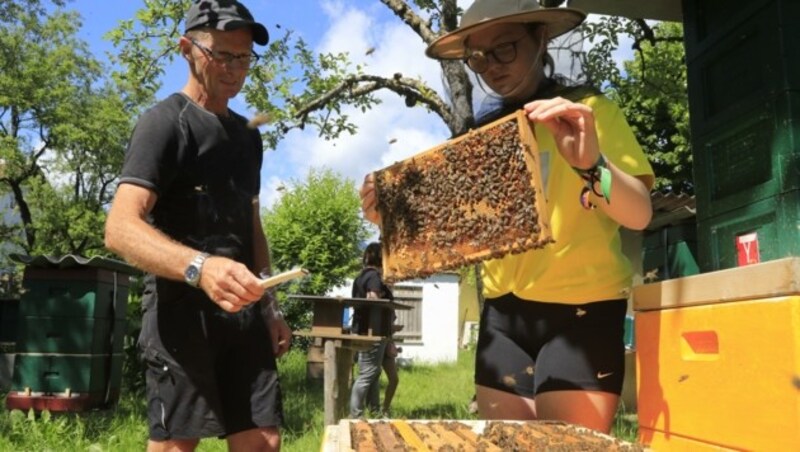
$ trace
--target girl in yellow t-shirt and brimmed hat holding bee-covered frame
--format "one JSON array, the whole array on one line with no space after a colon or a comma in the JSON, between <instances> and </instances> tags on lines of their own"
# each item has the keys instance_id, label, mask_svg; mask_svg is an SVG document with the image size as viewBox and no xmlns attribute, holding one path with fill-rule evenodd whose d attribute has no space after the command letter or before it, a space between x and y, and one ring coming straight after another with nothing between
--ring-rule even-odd
<instances>
[{"instance_id":1,"label":"girl in yellow t-shirt and brimmed hat holding bee-covered frame","mask_svg":"<svg viewBox=\"0 0 800 452\"><path fill-rule=\"evenodd\" d=\"M483 263L475 384L483 419L548 419L609 432L624 378L631 265L620 226L652 215L653 171L622 111L554 74L548 42L585 18L536 0L476 0L427 48L491 89L476 126L519 109L535 127L554 244ZM380 224L374 179L361 188Z\"/></svg>"}]
</instances>

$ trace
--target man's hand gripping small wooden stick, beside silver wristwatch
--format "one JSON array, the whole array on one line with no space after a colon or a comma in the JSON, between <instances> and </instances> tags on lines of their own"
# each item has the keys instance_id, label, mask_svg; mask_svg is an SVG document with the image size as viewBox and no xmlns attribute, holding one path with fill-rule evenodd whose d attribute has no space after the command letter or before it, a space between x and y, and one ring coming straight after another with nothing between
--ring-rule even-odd
<instances>
[{"instance_id":1,"label":"man's hand gripping small wooden stick, beside silver wristwatch","mask_svg":"<svg viewBox=\"0 0 800 452\"><path fill-rule=\"evenodd\" d=\"M203 264L200 288L228 312L238 312L261 299L264 289L247 267L234 260L211 256Z\"/></svg>"}]
</instances>

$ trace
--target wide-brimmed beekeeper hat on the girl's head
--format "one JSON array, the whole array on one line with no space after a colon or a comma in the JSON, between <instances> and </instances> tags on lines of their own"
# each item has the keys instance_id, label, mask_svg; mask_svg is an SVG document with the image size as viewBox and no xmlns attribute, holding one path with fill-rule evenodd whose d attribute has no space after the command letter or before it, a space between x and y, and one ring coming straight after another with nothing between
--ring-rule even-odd
<instances>
[{"instance_id":1,"label":"wide-brimmed beekeeper hat on the girl's head","mask_svg":"<svg viewBox=\"0 0 800 452\"><path fill-rule=\"evenodd\" d=\"M586 19L586 13L574 8L545 8L537 0L475 0L464 11L458 28L440 36L425 50L438 60L460 60L467 57L466 41L475 32L496 24L543 24L547 39L560 36Z\"/></svg>"}]
</instances>

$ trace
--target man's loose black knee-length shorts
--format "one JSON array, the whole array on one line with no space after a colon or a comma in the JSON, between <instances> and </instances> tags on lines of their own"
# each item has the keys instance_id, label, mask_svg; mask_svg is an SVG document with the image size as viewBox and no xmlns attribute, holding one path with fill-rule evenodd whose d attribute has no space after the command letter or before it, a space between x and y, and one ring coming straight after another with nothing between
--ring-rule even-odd
<instances>
[{"instance_id":1,"label":"man's loose black knee-length shorts","mask_svg":"<svg viewBox=\"0 0 800 452\"><path fill-rule=\"evenodd\" d=\"M272 345L258 305L159 302L142 319L150 439L224 437L283 422Z\"/></svg>"}]
</instances>

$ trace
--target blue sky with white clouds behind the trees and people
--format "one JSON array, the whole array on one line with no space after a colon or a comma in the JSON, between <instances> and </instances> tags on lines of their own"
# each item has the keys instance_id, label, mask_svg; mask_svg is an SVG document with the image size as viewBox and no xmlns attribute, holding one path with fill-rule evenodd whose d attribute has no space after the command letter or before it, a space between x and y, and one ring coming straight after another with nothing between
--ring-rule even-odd
<instances>
[{"instance_id":1,"label":"blue sky with white clouds behind the trees and people","mask_svg":"<svg viewBox=\"0 0 800 452\"><path fill-rule=\"evenodd\" d=\"M461 0L468 6L471 0ZM367 73L418 77L442 92L439 65L424 56L424 44L408 26L378 0L245 0L257 20L273 36L291 29L322 52L348 52L351 61ZM73 0L68 5L83 17L80 36L95 54L113 50L103 36L123 19L132 18L144 0ZM590 16L591 18L591 16ZM375 48L367 55L366 50ZM178 91L186 80L182 61L168 70L159 97ZM476 98L481 97L480 92ZM313 130L292 131L275 151L267 151L262 169L262 206L280 196L277 187L302 181L311 167L329 168L360 186L365 174L433 147L449 137L441 119L422 108L407 108L392 93L379 93L382 103L366 113L345 111L357 124L356 135L335 141L317 137ZM254 113L239 98L231 103L245 115Z\"/></svg>"}]
</instances>

